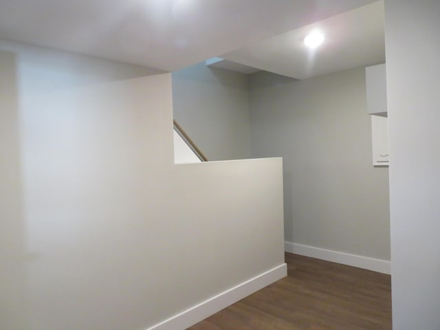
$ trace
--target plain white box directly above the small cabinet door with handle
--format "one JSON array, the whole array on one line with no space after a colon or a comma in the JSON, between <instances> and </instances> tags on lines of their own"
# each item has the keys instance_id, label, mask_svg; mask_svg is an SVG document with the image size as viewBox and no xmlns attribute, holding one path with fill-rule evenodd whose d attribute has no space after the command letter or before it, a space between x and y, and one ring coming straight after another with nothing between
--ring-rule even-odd
<instances>
[{"instance_id":1,"label":"plain white box directly above the small cabinet door with handle","mask_svg":"<svg viewBox=\"0 0 440 330\"><path fill-rule=\"evenodd\" d=\"M365 68L366 108L371 115L386 116L385 64Z\"/></svg>"}]
</instances>

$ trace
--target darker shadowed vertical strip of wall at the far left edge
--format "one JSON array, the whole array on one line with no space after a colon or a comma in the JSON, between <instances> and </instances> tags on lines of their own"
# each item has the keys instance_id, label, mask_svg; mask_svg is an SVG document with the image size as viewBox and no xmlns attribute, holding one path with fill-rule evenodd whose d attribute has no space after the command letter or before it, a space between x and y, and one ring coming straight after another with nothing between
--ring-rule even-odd
<instances>
[{"instance_id":1,"label":"darker shadowed vertical strip of wall at the far left edge","mask_svg":"<svg viewBox=\"0 0 440 330\"><path fill-rule=\"evenodd\" d=\"M0 51L0 329L32 329L19 127L17 55Z\"/></svg>"}]
</instances>

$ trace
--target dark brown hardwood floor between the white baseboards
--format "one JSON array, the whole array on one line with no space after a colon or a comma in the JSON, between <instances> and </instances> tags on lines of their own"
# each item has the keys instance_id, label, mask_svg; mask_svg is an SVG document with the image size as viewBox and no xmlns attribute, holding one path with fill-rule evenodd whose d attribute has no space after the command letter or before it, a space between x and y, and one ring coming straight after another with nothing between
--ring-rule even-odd
<instances>
[{"instance_id":1,"label":"dark brown hardwood floor between the white baseboards","mask_svg":"<svg viewBox=\"0 0 440 330\"><path fill-rule=\"evenodd\" d=\"M286 253L288 276L188 330L391 329L391 276Z\"/></svg>"}]
</instances>

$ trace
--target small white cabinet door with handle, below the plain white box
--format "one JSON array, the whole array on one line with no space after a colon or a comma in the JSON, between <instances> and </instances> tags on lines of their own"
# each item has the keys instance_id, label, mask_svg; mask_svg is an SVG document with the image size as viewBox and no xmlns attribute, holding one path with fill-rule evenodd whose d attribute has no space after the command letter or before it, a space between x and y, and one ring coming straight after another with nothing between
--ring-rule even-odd
<instances>
[{"instance_id":1,"label":"small white cabinet door with handle, below the plain white box","mask_svg":"<svg viewBox=\"0 0 440 330\"><path fill-rule=\"evenodd\" d=\"M388 166L388 118L380 115L371 116L371 136L373 142L373 165Z\"/></svg>"}]
</instances>

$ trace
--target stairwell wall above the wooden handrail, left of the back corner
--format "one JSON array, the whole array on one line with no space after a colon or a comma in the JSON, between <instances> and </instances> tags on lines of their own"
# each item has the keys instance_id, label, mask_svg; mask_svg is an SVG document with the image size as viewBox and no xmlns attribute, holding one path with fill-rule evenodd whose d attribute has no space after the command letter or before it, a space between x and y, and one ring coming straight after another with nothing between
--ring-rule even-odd
<instances>
[{"instance_id":1,"label":"stairwell wall above the wooden handrail, left of the back corner","mask_svg":"<svg viewBox=\"0 0 440 330\"><path fill-rule=\"evenodd\" d=\"M173 109L209 160L250 158L248 76L205 63L173 72Z\"/></svg>"}]
</instances>

